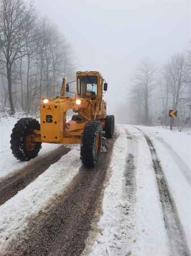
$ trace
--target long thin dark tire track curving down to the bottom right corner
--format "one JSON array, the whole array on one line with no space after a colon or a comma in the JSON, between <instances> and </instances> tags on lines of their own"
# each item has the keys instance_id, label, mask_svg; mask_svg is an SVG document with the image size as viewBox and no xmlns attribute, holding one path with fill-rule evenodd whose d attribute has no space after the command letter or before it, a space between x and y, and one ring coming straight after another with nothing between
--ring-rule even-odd
<instances>
[{"instance_id":1,"label":"long thin dark tire track curving down to the bottom right corner","mask_svg":"<svg viewBox=\"0 0 191 256\"><path fill-rule=\"evenodd\" d=\"M148 138L148 136L141 129L139 129L138 127L135 128L141 131L146 139L148 147L150 148L156 182L158 184L160 202L162 204L164 224L171 246L171 255L190 256L189 247L187 245L185 233L177 213L176 205L172 199L171 193L169 192L168 184L165 179L163 169L160 166L160 161L156 154L154 145L152 144L150 138Z\"/></svg>"}]
</instances>

